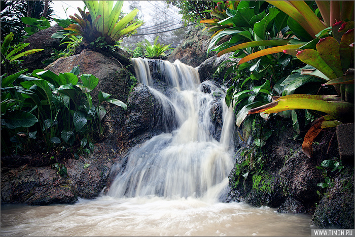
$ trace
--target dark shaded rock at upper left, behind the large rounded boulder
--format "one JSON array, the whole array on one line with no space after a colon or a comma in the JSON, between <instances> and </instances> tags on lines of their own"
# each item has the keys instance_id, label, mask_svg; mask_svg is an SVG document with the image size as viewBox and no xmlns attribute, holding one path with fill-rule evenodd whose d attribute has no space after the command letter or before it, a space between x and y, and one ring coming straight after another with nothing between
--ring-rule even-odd
<instances>
[{"instance_id":1,"label":"dark shaded rock at upper left, behind the large rounded boulder","mask_svg":"<svg viewBox=\"0 0 355 237\"><path fill-rule=\"evenodd\" d=\"M42 62L51 58L51 54L54 52L53 49L63 50L66 48L66 45L60 45L60 39L51 38L53 33L62 29L63 28L61 26L55 24L47 29L34 33L32 36L23 41L25 43L30 43L24 51L31 49L44 49L41 52L33 53L21 58L23 60L22 67L28 69L27 73L30 73L35 69L44 69L46 65Z\"/></svg>"}]
</instances>

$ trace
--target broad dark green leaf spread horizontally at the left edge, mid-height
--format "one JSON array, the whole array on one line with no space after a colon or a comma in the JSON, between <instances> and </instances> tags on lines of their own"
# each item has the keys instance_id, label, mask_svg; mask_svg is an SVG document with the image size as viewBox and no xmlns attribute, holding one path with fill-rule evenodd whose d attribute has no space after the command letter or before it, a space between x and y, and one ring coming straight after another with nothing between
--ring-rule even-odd
<instances>
[{"instance_id":1,"label":"broad dark green leaf spread horizontally at the left edge, mid-height","mask_svg":"<svg viewBox=\"0 0 355 237\"><path fill-rule=\"evenodd\" d=\"M9 129L30 127L37 122L38 119L33 114L21 110L9 111L1 118L1 125L4 125Z\"/></svg>"}]
</instances>

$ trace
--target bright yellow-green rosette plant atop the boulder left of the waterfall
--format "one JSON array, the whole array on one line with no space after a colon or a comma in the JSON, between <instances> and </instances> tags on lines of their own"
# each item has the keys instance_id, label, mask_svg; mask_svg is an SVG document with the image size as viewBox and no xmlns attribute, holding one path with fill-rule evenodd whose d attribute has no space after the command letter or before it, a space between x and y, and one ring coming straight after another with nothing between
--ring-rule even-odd
<instances>
[{"instance_id":1,"label":"bright yellow-green rosette plant atop the boulder left of the waterfall","mask_svg":"<svg viewBox=\"0 0 355 237\"><path fill-rule=\"evenodd\" d=\"M77 22L70 24L66 30L72 30L75 35L81 35L85 46L103 37L108 45L116 45L116 42L123 37L129 36L143 22L134 20L138 9L134 9L119 20L123 1L117 1L113 7L112 1L83 1L89 12L78 8L81 17L69 16Z\"/></svg>"}]
</instances>

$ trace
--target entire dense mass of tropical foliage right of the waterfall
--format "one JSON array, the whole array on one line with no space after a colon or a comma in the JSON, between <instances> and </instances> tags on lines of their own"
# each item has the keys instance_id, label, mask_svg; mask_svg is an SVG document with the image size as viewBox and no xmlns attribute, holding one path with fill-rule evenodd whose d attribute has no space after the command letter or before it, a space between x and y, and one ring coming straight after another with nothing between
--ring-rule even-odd
<instances>
[{"instance_id":1,"label":"entire dense mass of tropical foliage right of the waterfall","mask_svg":"<svg viewBox=\"0 0 355 237\"><path fill-rule=\"evenodd\" d=\"M310 6L304 1L229 1L219 6L211 12L214 19L201 23L217 30L208 50L241 58L227 71L234 75L226 103L234 107L236 125L244 122L250 134L253 115L267 119L279 113L292 115L299 133L294 110L324 112L302 146L311 157L312 141L323 128L353 121L353 2L340 7L332 1ZM230 39L218 45L225 36Z\"/></svg>"}]
</instances>

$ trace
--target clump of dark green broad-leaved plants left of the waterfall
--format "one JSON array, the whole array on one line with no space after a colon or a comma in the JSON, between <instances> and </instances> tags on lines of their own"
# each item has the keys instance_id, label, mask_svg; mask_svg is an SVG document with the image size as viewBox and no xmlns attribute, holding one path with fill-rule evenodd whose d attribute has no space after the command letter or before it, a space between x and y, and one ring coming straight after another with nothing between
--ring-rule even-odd
<instances>
[{"instance_id":1,"label":"clump of dark green broad-leaved plants left of the waterfall","mask_svg":"<svg viewBox=\"0 0 355 237\"><path fill-rule=\"evenodd\" d=\"M83 74L80 83L78 66L70 73L59 75L44 70L22 75L25 71L1 78L2 147L5 151L9 151L11 143L24 150L37 141L33 147L43 143L48 152L69 147L78 158L78 152L93 151L93 142L102 136L101 121L106 114L102 102L127 109L122 101L101 91L98 104L94 105L90 92L97 86L98 78ZM27 137L27 141L23 141L23 137Z\"/></svg>"}]
</instances>

